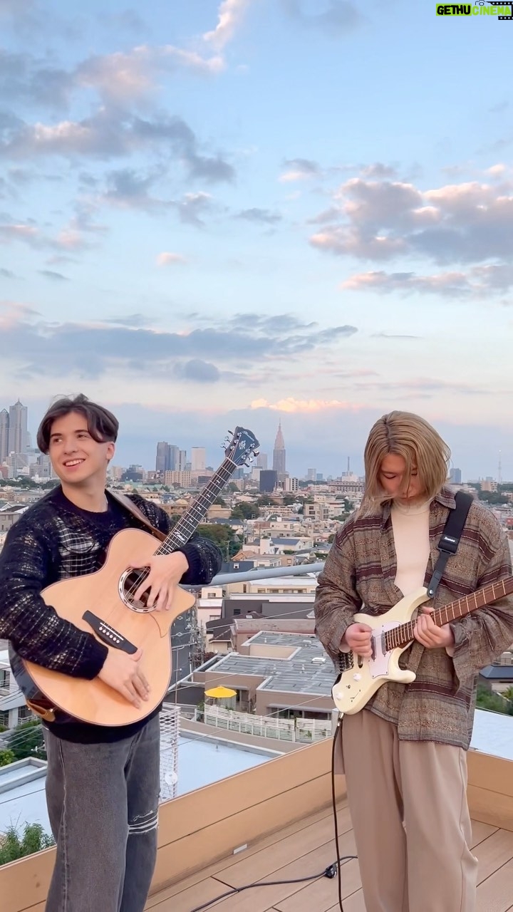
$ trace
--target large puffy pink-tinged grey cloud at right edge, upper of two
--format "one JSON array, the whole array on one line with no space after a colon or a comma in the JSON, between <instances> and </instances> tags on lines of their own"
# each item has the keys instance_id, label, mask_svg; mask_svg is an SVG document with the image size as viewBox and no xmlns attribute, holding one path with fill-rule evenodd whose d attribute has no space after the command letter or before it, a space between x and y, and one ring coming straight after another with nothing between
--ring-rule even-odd
<instances>
[{"instance_id":1,"label":"large puffy pink-tinged grey cloud at right edge, upper of two","mask_svg":"<svg viewBox=\"0 0 513 912\"><path fill-rule=\"evenodd\" d=\"M403 254L439 264L510 258L513 182L423 190L404 181L352 178L333 201L317 216L322 231L310 237L310 244L332 254L371 261Z\"/></svg>"}]
</instances>

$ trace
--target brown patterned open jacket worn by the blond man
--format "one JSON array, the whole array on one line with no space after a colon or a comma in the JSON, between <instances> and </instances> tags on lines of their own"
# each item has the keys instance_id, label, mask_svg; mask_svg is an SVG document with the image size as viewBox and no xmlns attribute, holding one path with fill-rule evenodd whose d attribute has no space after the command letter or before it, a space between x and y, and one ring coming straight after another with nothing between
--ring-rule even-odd
<instances>
[{"instance_id":1,"label":"brown patterned open jacket worn by the blond man","mask_svg":"<svg viewBox=\"0 0 513 912\"><path fill-rule=\"evenodd\" d=\"M448 511L454 509L454 492L445 487L431 503L425 586L433 574ZM335 664L340 640L356 612L380 615L403 597L394 584L396 555L390 513L387 504L372 515L351 516L336 534L319 575L316 632ZM457 553L449 557L432 604L441 607L510 574L506 535L493 513L474 501ZM466 750L472 736L476 675L513 642L513 596L480 608L451 627L453 658L444 648L426 649L415 641L400 662L415 672L415 680L408 685L383 684L366 708L397 724L400 739L438 741Z\"/></svg>"}]
</instances>

